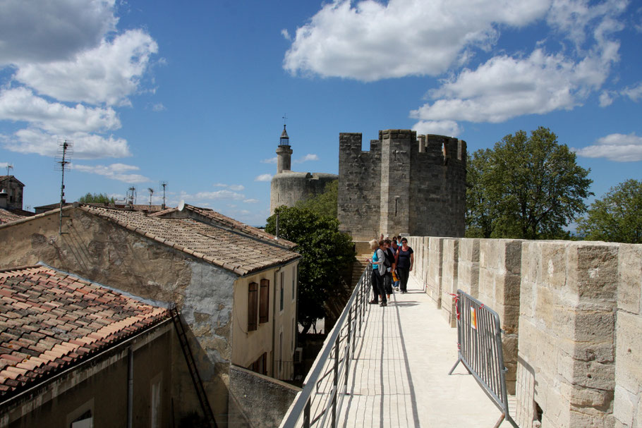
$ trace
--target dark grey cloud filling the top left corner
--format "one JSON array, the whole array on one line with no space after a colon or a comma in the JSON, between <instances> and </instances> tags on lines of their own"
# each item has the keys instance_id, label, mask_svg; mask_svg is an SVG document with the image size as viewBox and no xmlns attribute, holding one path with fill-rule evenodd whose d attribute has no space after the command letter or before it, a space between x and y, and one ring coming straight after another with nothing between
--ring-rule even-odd
<instances>
[{"instance_id":1,"label":"dark grey cloud filling the top left corner","mask_svg":"<svg viewBox=\"0 0 642 428\"><path fill-rule=\"evenodd\" d=\"M115 0L3 0L0 66L73 58L115 30Z\"/></svg>"}]
</instances>

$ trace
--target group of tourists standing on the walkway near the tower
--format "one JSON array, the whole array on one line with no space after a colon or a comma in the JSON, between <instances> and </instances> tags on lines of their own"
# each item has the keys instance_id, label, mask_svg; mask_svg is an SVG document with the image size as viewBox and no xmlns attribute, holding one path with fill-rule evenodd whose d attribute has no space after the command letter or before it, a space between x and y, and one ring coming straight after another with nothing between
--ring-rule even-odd
<instances>
[{"instance_id":1,"label":"group of tourists standing on the walkway near the tower","mask_svg":"<svg viewBox=\"0 0 642 428\"><path fill-rule=\"evenodd\" d=\"M408 247L408 240L393 236L392 240L384 239L383 234L379 240L370 241L373 250L373 300L371 305L387 306L390 295L395 291L408 293L408 275L413 270L415 258L413 249Z\"/></svg>"}]
</instances>

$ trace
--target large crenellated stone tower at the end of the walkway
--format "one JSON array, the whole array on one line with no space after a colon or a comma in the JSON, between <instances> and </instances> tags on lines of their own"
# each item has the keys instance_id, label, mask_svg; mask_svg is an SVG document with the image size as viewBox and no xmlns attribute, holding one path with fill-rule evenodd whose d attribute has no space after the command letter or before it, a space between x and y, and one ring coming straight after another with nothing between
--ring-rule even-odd
<instances>
[{"instance_id":1,"label":"large crenellated stone tower at the end of the walkway","mask_svg":"<svg viewBox=\"0 0 642 428\"><path fill-rule=\"evenodd\" d=\"M464 236L466 142L389 129L365 152L361 138L339 134L341 230L353 240L380 233Z\"/></svg>"}]
</instances>

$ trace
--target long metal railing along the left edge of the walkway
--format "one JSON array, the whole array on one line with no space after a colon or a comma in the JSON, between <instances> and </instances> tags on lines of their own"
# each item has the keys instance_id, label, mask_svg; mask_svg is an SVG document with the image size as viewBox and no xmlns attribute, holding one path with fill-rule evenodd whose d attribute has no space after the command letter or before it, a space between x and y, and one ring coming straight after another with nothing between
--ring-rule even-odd
<instances>
[{"instance_id":1,"label":"long metal railing along the left edge of the walkway","mask_svg":"<svg viewBox=\"0 0 642 428\"><path fill-rule=\"evenodd\" d=\"M280 428L337 427L341 405L348 390L356 338L361 334L368 307L371 271L372 267L368 264L305 377L303 391L291 404Z\"/></svg>"}]
</instances>

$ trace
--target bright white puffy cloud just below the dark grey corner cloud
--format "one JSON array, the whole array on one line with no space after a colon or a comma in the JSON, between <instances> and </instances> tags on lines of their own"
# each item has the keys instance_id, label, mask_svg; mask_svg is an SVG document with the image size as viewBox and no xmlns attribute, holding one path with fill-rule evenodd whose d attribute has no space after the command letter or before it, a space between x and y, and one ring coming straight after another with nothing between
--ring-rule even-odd
<instances>
[{"instance_id":1,"label":"bright white puffy cloud just below the dark grey corner cloud","mask_svg":"<svg viewBox=\"0 0 642 428\"><path fill-rule=\"evenodd\" d=\"M60 101L128 104L127 97L138 90L150 56L157 51L150 35L128 30L71 61L20 65L14 78Z\"/></svg>"}]
</instances>

